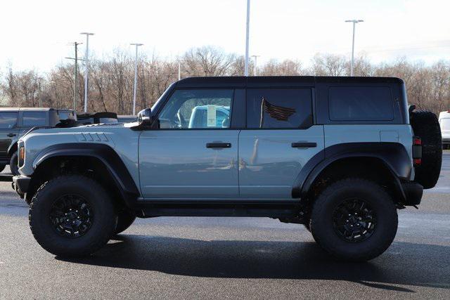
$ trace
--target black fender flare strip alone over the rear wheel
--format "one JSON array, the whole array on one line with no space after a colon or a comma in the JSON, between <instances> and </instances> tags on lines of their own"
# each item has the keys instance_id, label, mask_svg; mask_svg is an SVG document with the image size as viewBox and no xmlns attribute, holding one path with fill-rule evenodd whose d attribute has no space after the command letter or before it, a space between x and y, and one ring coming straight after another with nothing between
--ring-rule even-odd
<instances>
[{"instance_id":1,"label":"black fender flare strip alone over the rear wheel","mask_svg":"<svg viewBox=\"0 0 450 300\"><path fill-rule=\"evenodd\" d=\"M293 185L292 197L306 197L311 185L326 167L340 159L350 157L379 159L395 178L394 186L397 189L397 195L401 197L401 200L406 199L401 180L409 181L413 168L412 162L404 145L390 142L342 143L325 148L309 159L309 162L300 170Z\"/></svg>"}]
</instances>

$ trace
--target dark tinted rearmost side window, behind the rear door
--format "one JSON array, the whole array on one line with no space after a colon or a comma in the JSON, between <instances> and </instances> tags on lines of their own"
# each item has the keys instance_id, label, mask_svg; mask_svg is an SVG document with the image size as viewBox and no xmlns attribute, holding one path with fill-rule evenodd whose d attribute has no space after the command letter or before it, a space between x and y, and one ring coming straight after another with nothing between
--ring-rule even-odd
<instances>
[{"instance_id":1,"label":"dark tinted rearmost side window, behind the rear door","mask_svg":"<svg viewBox=\"0 0 450 300\"><path fill-rule=\"evenodd\" d=\"M330 119L333 121L389 121L394 119L390 88L330 88Z\"/></svg>"}]
</instances>

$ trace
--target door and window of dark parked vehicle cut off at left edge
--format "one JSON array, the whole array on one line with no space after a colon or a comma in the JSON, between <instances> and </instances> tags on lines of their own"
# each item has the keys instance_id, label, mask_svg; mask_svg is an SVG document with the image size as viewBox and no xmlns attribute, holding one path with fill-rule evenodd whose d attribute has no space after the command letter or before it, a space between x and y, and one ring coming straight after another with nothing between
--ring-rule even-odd
<instances>
[{"instance_id":1,"label":"door and window of dark parked vehicle cut off at left edge","mask_svg":"<svg viewBox=\"0 0 450 300\"><path fill-rule=\"evenodd\" d=\"M0 112L0 160L8 160L8 148L18 136L18 112ZM8 161L9 163L9 161Z\"/></svg>"}]
</instances>

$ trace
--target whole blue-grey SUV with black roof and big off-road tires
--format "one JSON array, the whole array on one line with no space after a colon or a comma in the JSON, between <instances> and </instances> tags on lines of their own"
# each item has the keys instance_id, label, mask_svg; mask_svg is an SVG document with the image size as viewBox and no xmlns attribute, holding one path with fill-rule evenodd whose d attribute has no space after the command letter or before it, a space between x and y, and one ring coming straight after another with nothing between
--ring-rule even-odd
<instances>
[{"instance_id":1,"label":"whole blue-grey SUV with black roof and big off-road tires","mask_svg":"<svg viewBox=\"0 0 450 300\"><path fill-rule=\"evenodd\" d=\"M265 216L304 224L338 259L373 259L442 159L436 115L388 77L182 79L136 123L36 129L18 147L14 188L59 256L136 217Z\"/></svg>"}]
</instances>

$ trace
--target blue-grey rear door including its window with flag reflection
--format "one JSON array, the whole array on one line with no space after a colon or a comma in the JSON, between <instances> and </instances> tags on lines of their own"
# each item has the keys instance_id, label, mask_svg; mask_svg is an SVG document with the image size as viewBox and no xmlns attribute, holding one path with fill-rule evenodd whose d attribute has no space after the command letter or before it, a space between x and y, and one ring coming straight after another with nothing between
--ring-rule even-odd
<instances>
[{"instance_id":1,"label":"blue-grey rear door including its window with flag reflection","mask_svg":"<svg viewBox=\"0 0 450 300\"><path fill-rule=\"evenodd\" d=\"M292 199L302 167L323 150L313 89L248 89L247 128L239 135L242 198Z\"/></svg>"}]
</instances>

